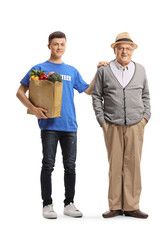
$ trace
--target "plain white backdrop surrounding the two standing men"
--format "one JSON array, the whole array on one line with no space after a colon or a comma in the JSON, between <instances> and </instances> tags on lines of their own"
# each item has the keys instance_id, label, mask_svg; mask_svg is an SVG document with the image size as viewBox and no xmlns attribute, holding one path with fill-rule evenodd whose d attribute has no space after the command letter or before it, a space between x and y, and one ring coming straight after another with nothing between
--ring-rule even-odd
<instances>
[{"instance_id":1,"label":"plain white backdrop surrounding the two standing men","mask_svg":"<svg viewBox=\"0 0 160 240\"><path fill-rule=\"evenodd\" d=\"M1 4L1 239L158 239L160 202L159 159L159 7L158 0L32 0ZM103 219L108 210L108 162L102 129L91 97L75 92L78 121L75 204L82 219L63 216L63 165L58 147L53 173L57 220L41 215L41 140L37 120L27 115L16 98L20 80L35 64L49 58L48 35L67 36L64 62L76 67L90 82L100 60L114 58L110 44L128 31L139 48L133 60L147 71L152 118L146 126L142 155L140 207L147 220L125 217Z\"/></svg>"}]
</instances>

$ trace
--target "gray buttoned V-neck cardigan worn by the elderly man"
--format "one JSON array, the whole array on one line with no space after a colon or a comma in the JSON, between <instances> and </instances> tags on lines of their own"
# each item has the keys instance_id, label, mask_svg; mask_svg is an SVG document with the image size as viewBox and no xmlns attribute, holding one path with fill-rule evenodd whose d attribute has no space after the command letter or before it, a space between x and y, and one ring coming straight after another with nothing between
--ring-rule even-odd
<instances>
[{"instance_id":1,"label":"gray buttoned V-neck cardigan worn by the elderly man","mask_svg":"<svg viewBox=\"0 0 160 240\"><path fill-rule=\"evenodd\" d=\"M104 120L117 125L132 125L150 119L150 96L145 69L135 63L135 72L123 88L110 66L100 67L92 91L93 108L102 126Z\"/></svg>"}]
</instances>

